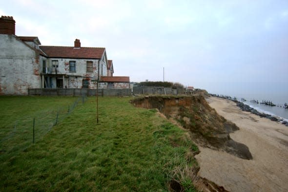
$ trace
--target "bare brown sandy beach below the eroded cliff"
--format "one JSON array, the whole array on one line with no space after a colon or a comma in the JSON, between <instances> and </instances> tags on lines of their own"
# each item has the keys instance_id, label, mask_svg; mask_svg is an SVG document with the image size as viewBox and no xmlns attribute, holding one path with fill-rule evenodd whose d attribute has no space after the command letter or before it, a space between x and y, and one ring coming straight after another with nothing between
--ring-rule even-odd
<instances>
[{"instance_id":1,"label":"bare brown sandy beach below the eroded cliff","mask_svg":"<svg viewBox=\"0 0 288 192\"><path fill-rule=\"evenodd\" d=\"M210 97L207 102L240 128L230 137L247 145L253 159L200 147L198 174L230 192L287 192L288 127L242 111L232 101Z\"/></svg>"}]
</instances>

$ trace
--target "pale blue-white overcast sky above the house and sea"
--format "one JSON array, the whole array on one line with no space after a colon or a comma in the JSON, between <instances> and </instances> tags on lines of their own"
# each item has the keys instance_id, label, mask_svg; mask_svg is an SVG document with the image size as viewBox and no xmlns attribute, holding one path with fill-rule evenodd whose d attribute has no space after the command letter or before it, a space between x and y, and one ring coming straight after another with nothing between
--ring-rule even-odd
<instances>
[{"instance_id":1,"label":"pale blue-white overcast sky above the house and sea","mask_svg":"<svg viewBox=\"0 0 288 192\"><path fill-rule=\"evenodd\" d=\"M114 76L288 93L288 0L9 0L16 35L105 47Z\"/></svg>"}]
</instances>

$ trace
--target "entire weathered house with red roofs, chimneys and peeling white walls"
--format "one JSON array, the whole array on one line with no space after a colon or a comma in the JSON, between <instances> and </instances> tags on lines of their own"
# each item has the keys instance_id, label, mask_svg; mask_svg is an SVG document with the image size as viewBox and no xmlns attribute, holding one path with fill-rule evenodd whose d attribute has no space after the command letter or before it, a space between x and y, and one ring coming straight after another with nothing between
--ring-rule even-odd
<instances>
[{"instance_id":1,"label":"entire weathered house with red roofs, chimneys and peeling white walls","mask_svg":"<svg viewBox=\"0 0 288 192\"><path fill-rule=\"evenodd\" d=\"M130 87L129 77L101 79L114 73L104 47L82 47L78 39L74 46L44 46L38 37L16 36L9 16L0 18L0 68L0 95L25 95L28 88L93 89L100 80L100 87Z\"/></svg>"}]
</instances>

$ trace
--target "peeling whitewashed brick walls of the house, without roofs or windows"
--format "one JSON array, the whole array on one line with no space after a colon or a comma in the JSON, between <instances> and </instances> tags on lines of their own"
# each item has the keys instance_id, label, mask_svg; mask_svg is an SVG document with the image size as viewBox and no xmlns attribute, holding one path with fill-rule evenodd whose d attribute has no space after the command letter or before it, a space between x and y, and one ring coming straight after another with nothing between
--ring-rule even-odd
<instances>
[{"instance_id":1,"label":"peeling whitewashed brick walls of the house, without roofs or windows","mask_svg":"<svg viewBox=\"0 0 288 192\"><path fill-rule=\"evenodd\" d=\"M46 61L46 67L54 74L56 68L52 66L52 61L58 61L57 74L69 76L69 78L65 77L63 82L63 87L67 88L82 88L83 80L89 82L89 88L96 88L96 82L91 80L97 80L98 75L107 75L106 56L100 61L46 58L35 52L29 45L35 47L32 42L23 43L14 35L0 34L0 94L25 95L28 93L28 88L42 88L41 73L46 73L46 70L43 71L43 60ZM76 62L76 72L69 70L70 61ZM87 72L87 61L93 62L93 72ZM55 77L51 76L51 83L51 87L56 88Z\"/></svg>"}]
</instances>

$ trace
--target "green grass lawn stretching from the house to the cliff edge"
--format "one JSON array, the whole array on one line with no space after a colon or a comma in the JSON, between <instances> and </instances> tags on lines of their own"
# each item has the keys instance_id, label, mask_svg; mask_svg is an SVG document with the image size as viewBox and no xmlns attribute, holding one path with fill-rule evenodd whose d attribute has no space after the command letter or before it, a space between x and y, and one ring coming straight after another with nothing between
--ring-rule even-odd
<instances>
[{"instance_id":1,"label":"green grass lawn stretching from the house to the cliff edge","mask_svg":"<svg viewBox=\"0 0 288 192\"><path fill-rule=\"evenodd\" d=\"M31 123L38 113L67 110L75 99L0 97L0 139L18 119ZM96 124L95 97L89 97L35 144L1 152L0 191L166 192L176 180L196 192L191 173L198 148L155 109L134 107L130 99L100 97Z\"/></svg>"}]
</instances>

